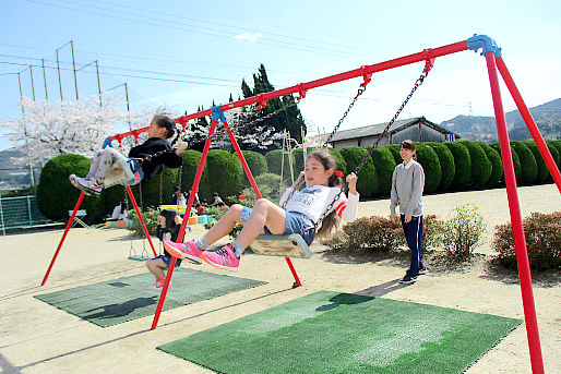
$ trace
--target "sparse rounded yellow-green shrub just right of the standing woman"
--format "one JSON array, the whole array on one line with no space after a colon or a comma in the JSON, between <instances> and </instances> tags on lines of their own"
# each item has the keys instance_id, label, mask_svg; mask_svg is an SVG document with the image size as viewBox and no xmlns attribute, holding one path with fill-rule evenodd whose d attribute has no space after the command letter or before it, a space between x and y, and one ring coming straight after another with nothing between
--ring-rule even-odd
<instances>
[{"instance_id":1,"label":"sparse rounded yellow-green shrub just right of the standing woman","mask_svg":"<svg viewBox=\"0 0 561 374\"><path fill-rule=\"evenodd\" d=\"M472 257L474 249L482 244L485 229L479 208L461 205L454 208L450 219L442 222L440 243L452 258L466 261Z\"/></svg>"}]
</instances>

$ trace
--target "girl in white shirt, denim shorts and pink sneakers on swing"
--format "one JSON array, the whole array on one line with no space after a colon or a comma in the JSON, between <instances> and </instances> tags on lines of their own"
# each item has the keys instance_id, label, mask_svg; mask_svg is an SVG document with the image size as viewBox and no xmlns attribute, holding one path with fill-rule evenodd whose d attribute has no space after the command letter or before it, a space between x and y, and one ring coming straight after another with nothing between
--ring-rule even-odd
<instances>
[{"instance_id":1,"label":"girl in white shirt, denim shorts and pink sneakers on swing","mask_svg":"<svg viewBox=\"0 0 561 374\"><path fill-rule=\"evenodd\" d=\"M265 198L258 200L253 209L234 204L202 238L187 243L165 241L164 246L175 257L199 263L204 261L212 266L236 272L241 254L261 233L300 233L309 245L315 233L330 234L336 228L339 217L346 221L357 218L358 177L355 173L347 176L347 198L342 191L343 173L335 171L335 167L332 154L327 150L315 150L308 156L305 171L280 197L280 205L288 200L286 210ZM295 194L302 178L308 186ZM315 227L323 213L325 219ZM237 224L242 224L243 229L235 241L216 252L205 251L208 245L227 236Z\"/></svg>"}]
</instances>

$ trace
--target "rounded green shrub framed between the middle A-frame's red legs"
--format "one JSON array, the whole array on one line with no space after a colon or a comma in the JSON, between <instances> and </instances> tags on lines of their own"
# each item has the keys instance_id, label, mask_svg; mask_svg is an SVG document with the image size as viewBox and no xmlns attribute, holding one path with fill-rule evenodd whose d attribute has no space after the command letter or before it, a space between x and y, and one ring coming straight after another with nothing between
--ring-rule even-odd
<instances>
[{"instance_id":1,"label":"rounded green shrub framed between the middle A-frame's red legs","mask_svg":"<svg viewBox=\"0 0 561 374\"><path fill-rule=\"evenodd\" d=\"M199 196L212 202L212 195L237 196L241 192L241 164L236 154L224 149L211 149L204 166Z\"/></svg>"}]
</instances>

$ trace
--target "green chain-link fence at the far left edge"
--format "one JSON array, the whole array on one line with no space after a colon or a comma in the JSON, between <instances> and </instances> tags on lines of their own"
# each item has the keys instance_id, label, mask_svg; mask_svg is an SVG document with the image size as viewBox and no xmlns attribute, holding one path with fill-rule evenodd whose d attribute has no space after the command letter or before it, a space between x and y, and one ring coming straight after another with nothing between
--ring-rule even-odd
<instances>
[{"instance_id":1,"label":"green chain-link fence at the far left edge","mask_svg":"<svg viewBox=\"0 0 561 374\"><path fill-rule=\"evenodd\" d=\"M0 230L29 228L53 224L37 208L35 195L0 196Z\"/></svg>"}]
</instances>

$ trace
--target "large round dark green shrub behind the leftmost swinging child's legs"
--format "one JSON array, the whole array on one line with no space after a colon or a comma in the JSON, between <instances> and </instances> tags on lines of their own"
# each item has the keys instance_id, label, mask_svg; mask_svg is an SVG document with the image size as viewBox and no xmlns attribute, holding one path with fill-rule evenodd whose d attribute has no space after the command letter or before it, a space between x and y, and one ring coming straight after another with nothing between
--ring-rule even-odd
<instances>
[{"instance_id":1,"label":"large round dark green shrub behind the leftmost swinging child's legs","mask_svg":"<svg viewBox=\"0 0 561 374\"><path fill-rule=\"evenodd\" d=\"M52 157L41 170L37 185L37 205L45 217L52 220L68 220L68 210L74 209L80 190L70 184L68 176L87 174L92 160L80 155ZM102 192L102 196L105 192ZM106 215L103 197L85 196L80 209L87 210L87 222L102 221ZM112 210L112 206L111 206Z\"/></svg>"}]
</instances>

